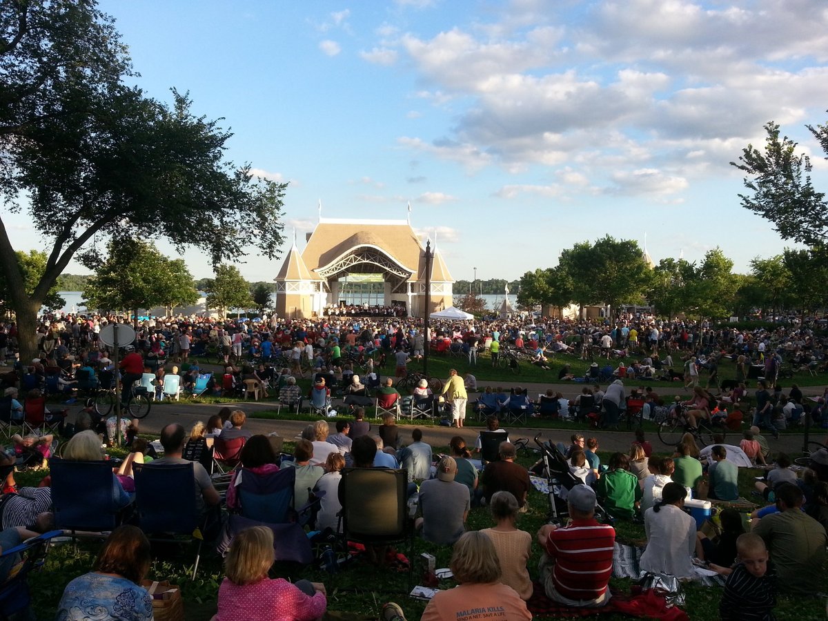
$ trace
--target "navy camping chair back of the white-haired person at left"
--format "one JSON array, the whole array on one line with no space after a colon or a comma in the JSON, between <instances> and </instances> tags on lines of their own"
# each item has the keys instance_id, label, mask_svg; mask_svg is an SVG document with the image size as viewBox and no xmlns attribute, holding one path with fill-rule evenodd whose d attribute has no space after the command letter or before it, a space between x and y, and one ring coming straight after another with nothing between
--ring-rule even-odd
<instances>
[{"instance_id":1,"label":"navy camping chair back of the white-haired person at left","mask_svg":"<svg viewBox=\"0 0 828 621\"><path fill-rule=\"evenodd\" d=\"M108 461L49 460L55 527L68 531L111 531L118 525Z\"/></svg>"}]
</instances>

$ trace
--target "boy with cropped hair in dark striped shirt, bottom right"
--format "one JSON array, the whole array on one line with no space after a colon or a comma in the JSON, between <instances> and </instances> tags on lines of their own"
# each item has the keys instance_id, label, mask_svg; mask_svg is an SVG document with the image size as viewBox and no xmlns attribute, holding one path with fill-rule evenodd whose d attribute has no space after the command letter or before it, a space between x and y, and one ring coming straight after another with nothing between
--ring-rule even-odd
<instances>
[{"instance_id":1,"label":"boy with cropped hair in dark striped shirt, bottom right","mask_svg":"<svg viewBox=\"0 0 828 621\"><path fill-rule=\"evenodd\" d=\"M736 539L736 564L733 568L710 565L727 575L719 604L720 619L773 619L777 581L773 566L768 566L768 548L762 537L753 533Z\"/></svg>"}]
</instances>

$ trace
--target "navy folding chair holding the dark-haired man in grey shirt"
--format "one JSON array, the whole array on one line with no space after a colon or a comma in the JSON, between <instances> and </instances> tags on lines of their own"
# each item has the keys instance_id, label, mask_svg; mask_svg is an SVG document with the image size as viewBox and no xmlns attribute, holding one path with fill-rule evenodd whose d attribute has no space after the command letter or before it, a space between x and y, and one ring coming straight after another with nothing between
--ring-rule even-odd
<instances>
[{"instance_id":1,"label":"navy folding chair holding the dark-haired man in grey shirt","mask_svg":"<svg viewBox=\"0 0 828 621\"><path fill-rule=\"evenodd\" d=\"M151 542L197 541L193 580L199 570L201 546L204 544L195 493L192 463L145 464L135 469L138 527Z\"/></svg>"}]
</instances>

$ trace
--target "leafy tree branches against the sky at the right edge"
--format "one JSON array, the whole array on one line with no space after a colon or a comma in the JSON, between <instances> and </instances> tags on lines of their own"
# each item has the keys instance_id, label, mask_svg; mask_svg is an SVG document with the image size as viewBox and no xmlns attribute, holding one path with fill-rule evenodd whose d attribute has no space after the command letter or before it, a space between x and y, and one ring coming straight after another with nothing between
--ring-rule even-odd
<instances>
[{"instance_id":1,"label":"leafy tree branches against the sky at the right edge","mask_svg":"<svg viewBox=\"0 0 828 621\"><path fill-rule=\"evenodd\" d=\"M806 126L828 154L828 125ZM739 162L747 173L744 186L750 194L739 195L742 206L770 220L785 239L813 244L828 238L828 202L825 194L811 184L811 159L797 155L797 143L779 137L779 126L767 123L768 137L763 151L749 144Z\"/></svg>"}]
</instances>

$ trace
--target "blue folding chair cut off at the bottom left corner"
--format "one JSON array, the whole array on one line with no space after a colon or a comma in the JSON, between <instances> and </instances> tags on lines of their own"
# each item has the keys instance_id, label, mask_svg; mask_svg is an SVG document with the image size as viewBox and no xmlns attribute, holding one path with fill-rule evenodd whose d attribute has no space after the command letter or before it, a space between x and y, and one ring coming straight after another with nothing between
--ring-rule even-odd
<instances>
[{"instance_id":1,"label":"blue folding chair cut off at the bottom left corner","mask_svg":"<svg viewBox=\"0 0 828 621\"><path fill-rule=\"evenodd\" d=\"M26 581L32 570L40 569L46 560L52 537L62 531L44 532L0 554L0 619L34 619L31 611L31 593ZM11 572L13 575L7 577Z\"/></svg>"}]
</instances>

